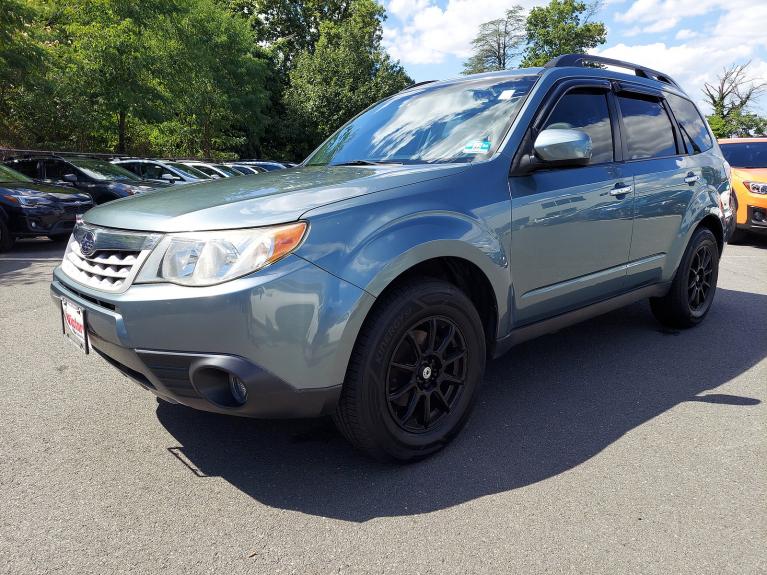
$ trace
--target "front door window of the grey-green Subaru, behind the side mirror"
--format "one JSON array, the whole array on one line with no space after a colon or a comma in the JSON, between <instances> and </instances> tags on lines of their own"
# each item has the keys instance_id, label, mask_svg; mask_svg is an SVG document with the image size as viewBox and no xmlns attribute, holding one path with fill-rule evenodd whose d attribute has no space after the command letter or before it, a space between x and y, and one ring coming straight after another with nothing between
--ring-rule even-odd
<instances>
[{"instance_id":1,"label":"front door window of the grey-green Subaru, behind the side mirror","mask_svg":"<svg viewBox=\"0 0 767 575\"><path fill-rule=\"evenodd\" d=\"M602 91L574 90L557 102L543 129L575 128L591 137L590 164L613 161L613 131L607 95Z\"/></svg>"}]
</instances>

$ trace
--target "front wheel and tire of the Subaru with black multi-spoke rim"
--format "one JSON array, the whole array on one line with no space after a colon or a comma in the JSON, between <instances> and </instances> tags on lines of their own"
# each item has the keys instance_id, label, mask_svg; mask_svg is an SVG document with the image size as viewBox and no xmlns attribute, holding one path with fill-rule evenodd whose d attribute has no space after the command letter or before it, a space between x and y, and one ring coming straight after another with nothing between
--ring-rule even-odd
<instances>
[{"instance_id":1,"label":"front wheel and tire of the Subaru with black multi-spoke rim","mask_svg":"<svg viewBox=\"0 0 767 575\"><path fill-rule=\"evenodd\" d=\"M439 280L409 281L366 320L333 420L376 459L423 459L466 424L485 354L482 321L462 291Z\"/></svg>"}]
</instances>

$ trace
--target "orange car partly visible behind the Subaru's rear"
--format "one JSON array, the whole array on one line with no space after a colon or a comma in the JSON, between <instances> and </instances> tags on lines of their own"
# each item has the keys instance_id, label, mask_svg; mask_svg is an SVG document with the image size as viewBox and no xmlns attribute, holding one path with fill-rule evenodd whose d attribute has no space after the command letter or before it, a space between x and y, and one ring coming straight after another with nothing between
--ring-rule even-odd
<instances>
[{"instance_id":1,"label":"orange car partly visible behind the Subaru's rear","mask_svg":"<svg viewBox=\"0 0 767 575\"><path fill-rule=\"evenodd\" d=\"M729 241L749 231L767 234L767 138L727 138L719 146L732 167L735 226Z\"/></svg>"}]
</instances>

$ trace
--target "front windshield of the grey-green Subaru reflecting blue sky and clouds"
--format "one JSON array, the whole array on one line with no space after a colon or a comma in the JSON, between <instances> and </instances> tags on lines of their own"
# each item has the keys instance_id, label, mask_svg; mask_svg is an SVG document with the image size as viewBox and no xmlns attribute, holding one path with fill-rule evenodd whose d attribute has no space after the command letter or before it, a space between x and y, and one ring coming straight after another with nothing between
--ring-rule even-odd
<instances>
[{"instance_id":1,"label":"front windshield of the grey-green Subaru reflecting blue sky and clouds","mask_svg":"<svg viewBox=\"0 0 767 575\"><path fill-rule=\"evenodd\" d=\"M375 104L307 165L472 162L495 152L537 76L424 85Z\"/></svg>"}]
</instances>

